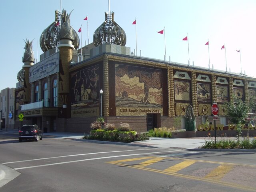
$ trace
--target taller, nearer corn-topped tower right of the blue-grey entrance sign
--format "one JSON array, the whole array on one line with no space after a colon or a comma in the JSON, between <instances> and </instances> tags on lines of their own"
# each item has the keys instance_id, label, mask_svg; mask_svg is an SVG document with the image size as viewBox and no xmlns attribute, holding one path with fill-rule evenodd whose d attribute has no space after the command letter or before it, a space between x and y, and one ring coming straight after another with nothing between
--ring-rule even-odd
<instances>
[{"instance_id":1,"label":"taller, nearer corn-topped tower right of the blue-grey entrance sign","mask_svg":"<svg viewBox=\"0 0 256 192\"><path fill-rule=\"evenodd\" d=\"M60 50L60 72L59 72L59 82L58 82L58 93L61 100L58 102L58 107L63 107L64 118L70 117L70 108L68 103L70 102L69 98L69 67L72 60L72 50L74 45L73 29L70 26L70 14L67 14L66 11L63 11L61 19L61 28L60 34L58 36L60 43L58 49Z\"/></svg>"}]
</instances>

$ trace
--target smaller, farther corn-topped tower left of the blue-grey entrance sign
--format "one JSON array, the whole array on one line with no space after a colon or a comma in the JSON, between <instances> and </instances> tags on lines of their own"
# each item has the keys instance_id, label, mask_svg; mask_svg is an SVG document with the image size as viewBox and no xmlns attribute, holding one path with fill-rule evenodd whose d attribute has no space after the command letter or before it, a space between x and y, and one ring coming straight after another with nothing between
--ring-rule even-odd
<instances>
[{"instance_id":1,"label":"smaller, farther corn-topped tower left of the blue-grey entrance sign","mask_svg":"<svg viewBox=\"0 0 256 192\"><path fill-rule=\"evenodd\" d=\"M26 39L25 41L25 51L24 56L22 57L22 62L24 65L22 66L23 70L23 76L21 79L24 82L24 94L23 94L23 103L26 104L30 101L30 92L31 92L31 86L29 83L29 68L34 65L35 58L34 58L34 52L32 51L32 42Z\"/></svg>"}]
</instances>

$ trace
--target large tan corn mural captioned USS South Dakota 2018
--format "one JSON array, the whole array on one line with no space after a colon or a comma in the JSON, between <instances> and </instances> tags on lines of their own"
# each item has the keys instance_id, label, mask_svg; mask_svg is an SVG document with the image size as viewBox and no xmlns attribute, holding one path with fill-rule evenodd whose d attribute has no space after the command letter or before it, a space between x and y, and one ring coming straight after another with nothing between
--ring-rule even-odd
<instances>
[{"instance_id":1,"label":"large tan corn mural captioned USS South Dakota 2018","mask_svg":"<svg viewBox=\"0 0 256 192\"><path fill-rule=\"evenodd\" d=\"M162 113L162 70L115 65L116 114Z\"/></svg>"}]
</instances>

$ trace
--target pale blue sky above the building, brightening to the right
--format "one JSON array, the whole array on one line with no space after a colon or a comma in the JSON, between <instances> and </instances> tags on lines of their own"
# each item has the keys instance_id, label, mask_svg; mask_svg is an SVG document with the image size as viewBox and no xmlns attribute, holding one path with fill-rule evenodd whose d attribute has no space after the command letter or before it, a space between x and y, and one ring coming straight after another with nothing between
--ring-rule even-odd
<instances>
[{"instance_id":1,"label":"pale blue sky above the building, brightening to the right","mask_svg":"<svg viewBox=\"0 0 256 192\"><path fill-rule=\"evenodd\" d=\"M96 28L104 22L108 0L62 0L62 7L71 13L70 22L78 31L82 24L83 45ZM5 0L0 6L0 90L16 87L17 73L22 68L24 40L33 40L35 58L42 50L38 45L42 31L54 21L54 10L60 9L60 0ZM138 54L164 59L164 35L157 33L165 27L166 56L172 62L188 63L208 68L209 38L210 67L256 76L256 0L110 0L110 11L124 29L126 46L136 49L135 25L137 18ZM187 36L188 42L182 39ZM80 36L80 34L79 34ZM225 50L221 47L226 44Z\"/></svg>"}]
</instances>

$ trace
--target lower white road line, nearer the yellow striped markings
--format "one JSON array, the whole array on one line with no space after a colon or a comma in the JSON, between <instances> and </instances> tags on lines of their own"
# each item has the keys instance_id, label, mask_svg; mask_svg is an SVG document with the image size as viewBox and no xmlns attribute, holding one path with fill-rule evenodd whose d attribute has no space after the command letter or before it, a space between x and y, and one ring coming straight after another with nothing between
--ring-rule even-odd
<instances>
[{"instance_id":1,"label":"lower white road line, nearer the yellow striped markings","mask_svg":"<svg viewBox=\"0 0 256 192\"><path fill-rule=\"evenodd\" d=\"M51 165L59 165L59 164L66 164L66 163L74 163L74 162L82 162L82 161L90 161L90 160L98 160L98 159L107 159L107 158L114 158L114 157L125 157L125 156L134 156L134 155L147 155L147 154L155 154L155 153L166 153L166 152L177 152L181 150L176 151L162 151L162 152L151 152L151 153L140 153L140 154L128 154L128 155L117 155L117 156L108 156L108 157L98 157L98 158L90 158L90 159L82 159L82 160L76 160L76 161L66 161L66 162L59 162L59 163L51 163L46 165L37 165L37 166L29 166L29 167L20 167L20 168L14 168L14 170L20 170L20 169L28 169L28 168L35 168L35 167L44 167L44 166L51 166Z\"/></svg>"}]
</instances>

